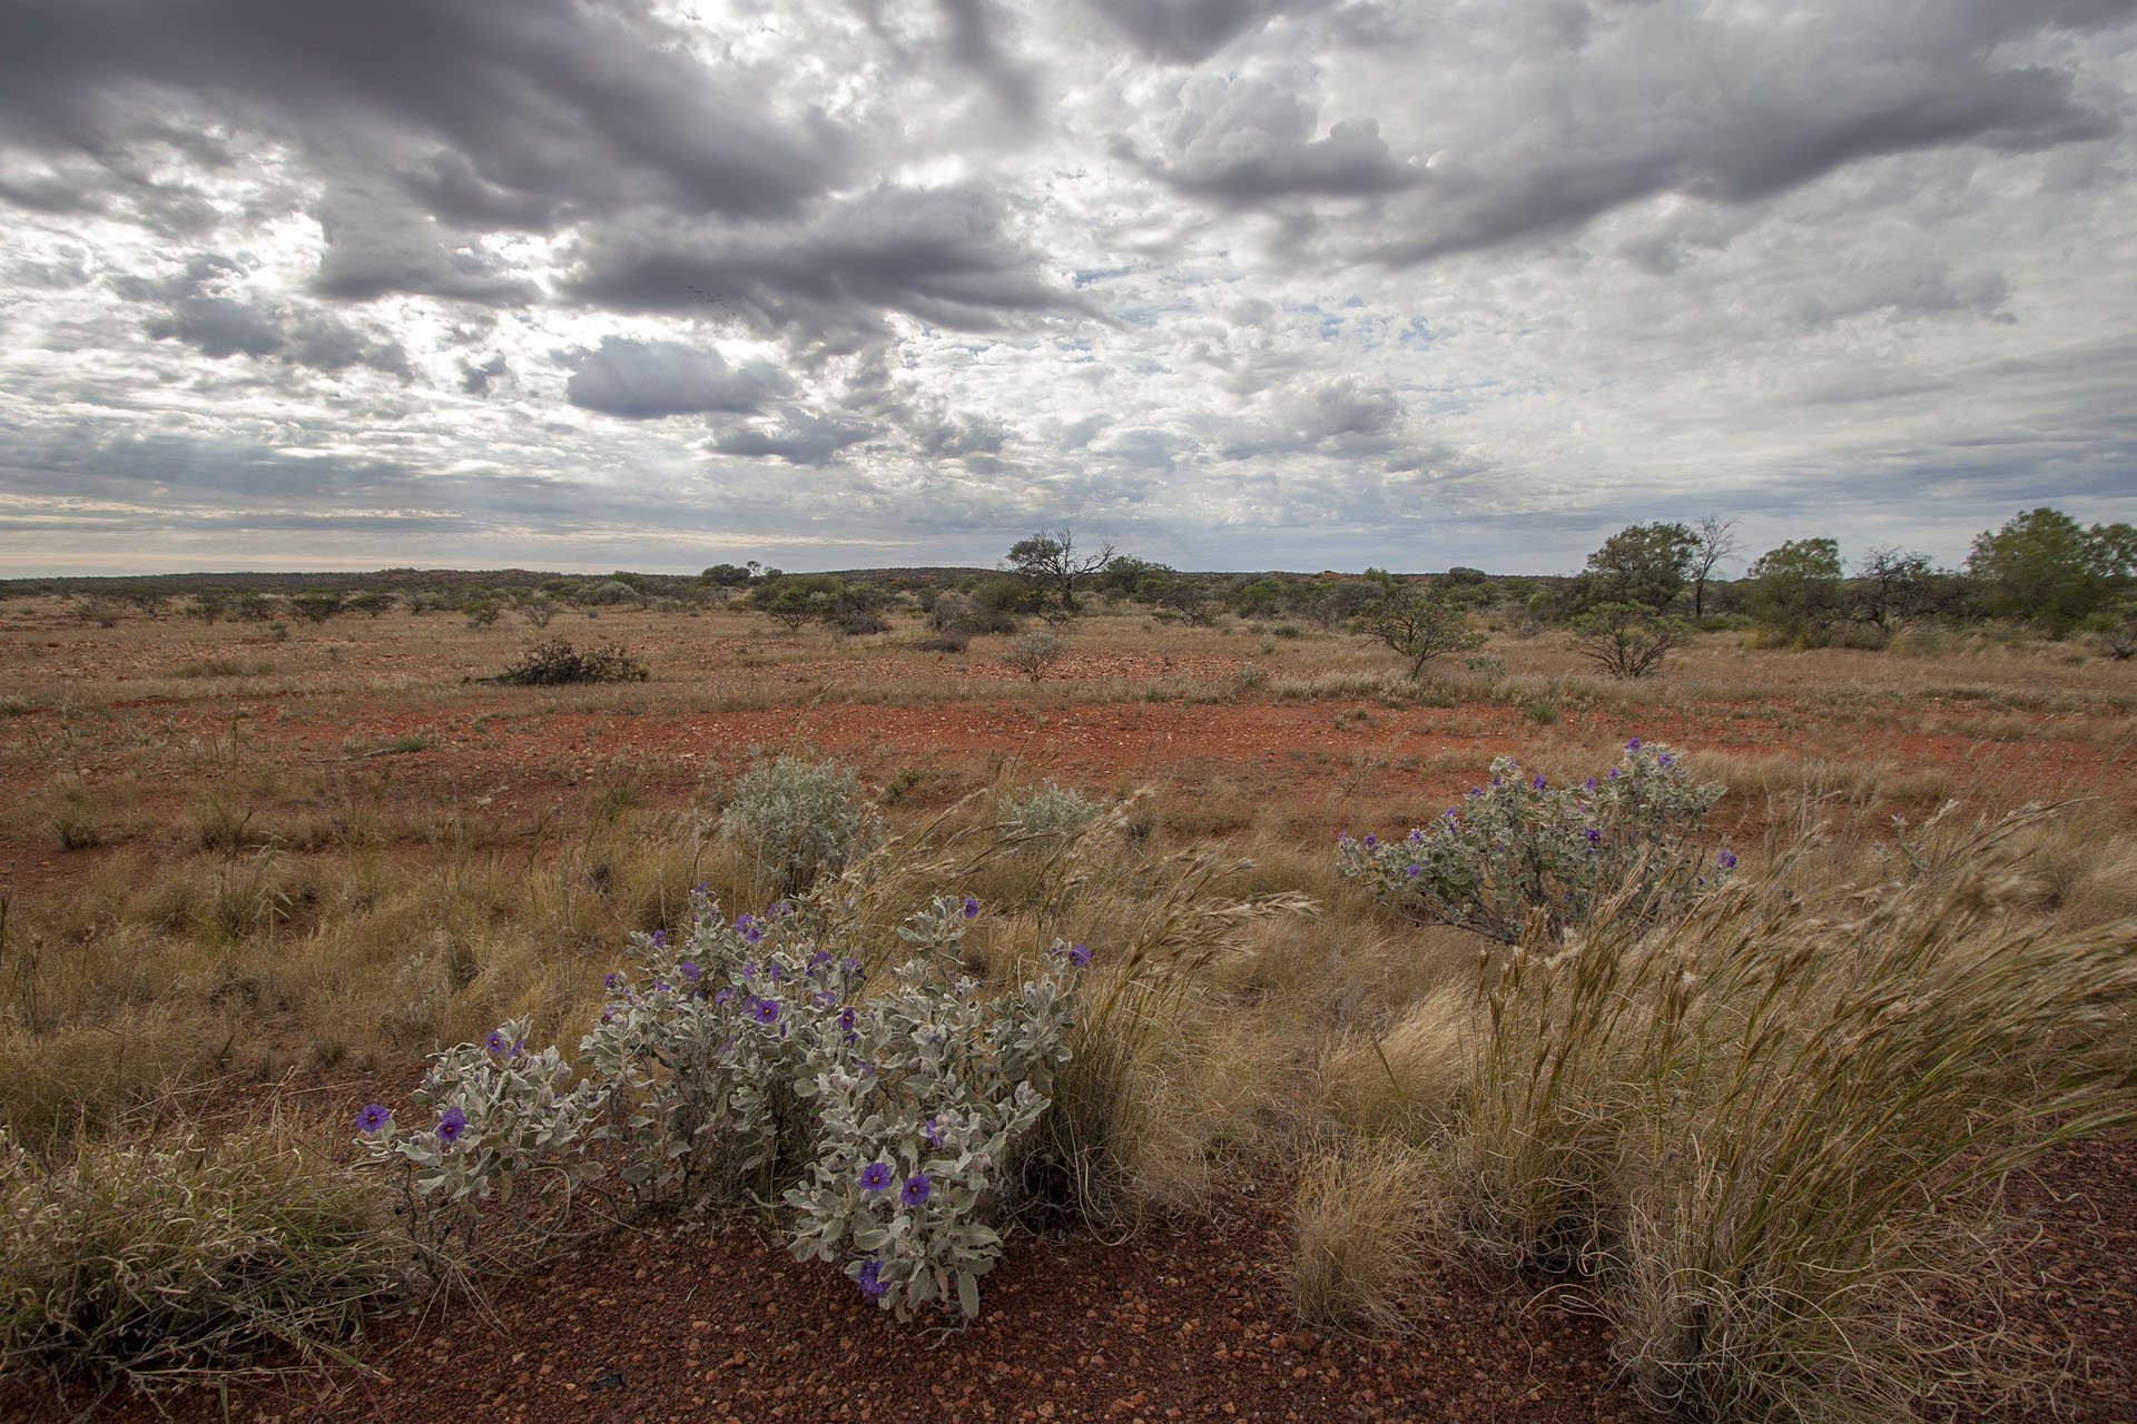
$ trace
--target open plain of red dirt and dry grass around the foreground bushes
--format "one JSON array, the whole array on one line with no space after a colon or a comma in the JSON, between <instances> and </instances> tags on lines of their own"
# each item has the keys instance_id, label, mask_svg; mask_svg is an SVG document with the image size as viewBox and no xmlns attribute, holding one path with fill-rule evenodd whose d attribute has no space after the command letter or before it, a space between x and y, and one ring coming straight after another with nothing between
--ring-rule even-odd
<instances>
[{"instance_id":1,"label":"open plain of red dirt and dry grass around the foreground bushes","mask_svg":"<svg viewBox=\"0 0 2137 1424\"><path fill-rule=\"evenodd\" d=\"M539 636L622 643L650 677L487 681ZM1562 634L1498 630L1502 673L1449 660L1413 683L1333 632L1098 608L1034 681L1002 664L1004 638L932 653L921 636L910 615L833 638L739 608L571 613L541 634L395 608L269 634L0 604L0 1108L30 1144L274 1119L350 1161L355 1112L400 1110L430 1050L515 1016L575 1044L626 935L673 929L692 884L763 903L718 835L722 788L759 749L853 766L910 865L987 907L974 944L996 967L1058 933L1090 942L1103 982L1180 875L1263 909L1225 920L1163 1008L1109 1219L1013 1234L962 1330L898 1324L795 1264L763 1211L581 1206L457 1294L368 1311L342 1362L173 1377L154 1401L30 1371L0 1409L1643 1418L1667 1401L1635 1388L1622 1319L1566 1272L1400 1230L1381 1277L1333 1298L1306 1264L1325 1232L1301 1200L1314 1164L1432 1142L1430 1072L1408 1082L1389 1046L1417 1006L1468 1001L1481 944L1374 905L1336 875L1336 837L1430 822L1496 756L1577 779L1643 739L1727 786L1707 837L1746 877L1904 877L1938 835L2037 805L2056 809L2007 845L1998 914L2105 933L2137 912L2137 664L2073 645L1955 632L1797 653L1703 634L1660 677L1607 681ZM1017 856L960 839L1045 784L1113 807L1105 884L1060 903ZM2002 1313L2045 1362L2045 1394L1998 1398L2137 1420L2126 1132L2054 1146L1990 1196L1994 1296L1923 1309ZM1955 1394L1923 1415L2000 1407L2017 1405Z\"/></svg>"}]
</instances>

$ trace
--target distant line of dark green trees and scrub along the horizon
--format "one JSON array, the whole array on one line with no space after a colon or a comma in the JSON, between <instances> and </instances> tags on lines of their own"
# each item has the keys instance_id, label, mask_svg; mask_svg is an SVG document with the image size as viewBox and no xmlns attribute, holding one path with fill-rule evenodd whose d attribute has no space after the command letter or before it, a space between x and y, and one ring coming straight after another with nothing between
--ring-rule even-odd
<instances>
[{"instance_id":1,"label":"distant line of dark green trees and scrub along the horizon","mask_svg":"<svg viewBox=\"0 0 2137 1424\"><path fill-rule=\"evenodd\" d=\"M105 623L122 615L325 623L402 611L547 628L560 613L735 604L793 630L814 623L833 636L868 636L889 632L891 615L904 611L925 623L923 647L942 651L1013 634L1026 619L1060 628L1092 611L1137 611L1192 626L1248 619L1276 634L1344 630L1385 643L1413 675L1432 658L1475 647L1472 617L1515 636L1571 630L1586 655L1624 677L1652 670L1699 628L1737 630L1765 647L1885 647L1908 630L1998 619L2049 638L2086 636L2113 658L2137 655L2137 529L2126 523L2086 527L2054 508L2026 510L1981 532L1960 568L1891 544L1846 561L1840 542L1821 536L1787 540L1725 579L1722 568L1742 555L1735 521L1707 515L1626 525L1571 576L1494 576L1466 566L1430 576L1381 568L1216 574L1182 572L1113 544L1079 547L1060 527L1017 540L994 570L789 574L748 561L695 576L383 570L28 579L0 591L71 596Z\"/></svg>"}]
</instances>

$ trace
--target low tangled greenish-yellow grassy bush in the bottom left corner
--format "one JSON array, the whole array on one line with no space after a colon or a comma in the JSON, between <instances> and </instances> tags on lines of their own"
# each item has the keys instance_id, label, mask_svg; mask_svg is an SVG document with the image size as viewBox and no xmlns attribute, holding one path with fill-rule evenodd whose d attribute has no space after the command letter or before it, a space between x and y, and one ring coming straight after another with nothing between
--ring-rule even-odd
<instances>
[{"instance_id":1,"label":"low tangled greenish-yellow grassy bush in the bottom left corner","mask_svg":"<svg viewBox=\"0 0 2137 1424\"><path fill-rule=\"evenodd\" d=\"M49 1168L0 1129L0 1373L143 1386L314 1356L404 1281L383 1217L274 1127L83 1142Z\"/></svg>"}]
</instances>

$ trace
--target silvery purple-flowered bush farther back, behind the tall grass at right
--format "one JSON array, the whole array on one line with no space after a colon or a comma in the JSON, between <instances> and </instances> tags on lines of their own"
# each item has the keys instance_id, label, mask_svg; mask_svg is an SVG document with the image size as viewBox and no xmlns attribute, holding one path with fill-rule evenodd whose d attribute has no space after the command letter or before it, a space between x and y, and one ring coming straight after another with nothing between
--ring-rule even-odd
<instances>
[{"instance_id":1,"label":"silvery purple-flowered bush farther back, behind the tall grass at right","mask_svg":"<svg viewBox=\"0 0 2137 1424\"><path fill-rule=\"evenodd\" d=\"M1701 826L1720 798L1684 760L1637 737L1603 775L1556 786L1502 756L1487 786L1406 837L1338 841L1340 871L1428 924L1515 944L1528 916L1554 933L1584 924L1607 897L1618 914L1660 920L1735 869L1707 856Z\"/></svg>"}]
</instances>

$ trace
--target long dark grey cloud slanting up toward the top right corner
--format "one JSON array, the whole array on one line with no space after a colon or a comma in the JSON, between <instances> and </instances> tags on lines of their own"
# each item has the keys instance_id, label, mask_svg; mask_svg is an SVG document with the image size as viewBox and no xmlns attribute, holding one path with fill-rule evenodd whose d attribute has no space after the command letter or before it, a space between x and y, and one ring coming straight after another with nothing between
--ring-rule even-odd
<instances>
[{"instance_id":1,"label":"long dark grey cloud slanting up toward the top right corner","mask_svg":"<svg viewBox=\"0 0 2137 1424\"><path fill-rule=\"evenodd\" d=\"M1870 158L2103 139L2118 120L2081 102L2071 75L1998 68L1992 49L2109 9L2131 6L1953 4L1902 43L1881 15L1806 38L1650 4L1594 36L1581 64L1545 70L1547 88L1509 85L1494 96L1504 111L1464 115L1470 132L1393 209L1410 233L1370 252L1404 267L1556 237L1665 192L1744 205Z\"/></svg>"}]
</instances>

